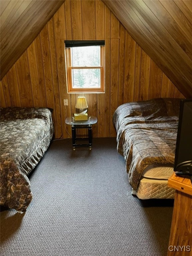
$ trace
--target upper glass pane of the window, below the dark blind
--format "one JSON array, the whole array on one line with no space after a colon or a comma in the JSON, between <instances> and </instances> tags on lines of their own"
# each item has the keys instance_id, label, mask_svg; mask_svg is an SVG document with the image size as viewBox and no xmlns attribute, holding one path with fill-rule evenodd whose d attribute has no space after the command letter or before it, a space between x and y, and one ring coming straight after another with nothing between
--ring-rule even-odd
<instances>
[{"instance_id":1,"label":"upper glass pane of the window, below the dark blind","mask_svg":"<svg viewBox=\"0 0 192 256\"><path fill-rule=\"evenodd\" d=\"M73 67L100 66L100 46L72 47L71 65Z\"/></svg>"}]
</instances>

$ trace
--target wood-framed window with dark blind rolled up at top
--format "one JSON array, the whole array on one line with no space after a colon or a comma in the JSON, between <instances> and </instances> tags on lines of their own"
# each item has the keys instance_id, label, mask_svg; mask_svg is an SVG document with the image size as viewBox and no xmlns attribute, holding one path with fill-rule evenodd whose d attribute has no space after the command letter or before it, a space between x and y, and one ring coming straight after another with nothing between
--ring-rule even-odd
<instances>
[{"instance_id":1,"label":"wood-framed window with dark blind rolled up at top","mask_svg":"<svg viewBox=\"0 0 192 256\"><path fill-rule=\"evenodd\" d=\"M105 42L65 41L68 93L105 92Z\"/></svg>"}]
</instances>

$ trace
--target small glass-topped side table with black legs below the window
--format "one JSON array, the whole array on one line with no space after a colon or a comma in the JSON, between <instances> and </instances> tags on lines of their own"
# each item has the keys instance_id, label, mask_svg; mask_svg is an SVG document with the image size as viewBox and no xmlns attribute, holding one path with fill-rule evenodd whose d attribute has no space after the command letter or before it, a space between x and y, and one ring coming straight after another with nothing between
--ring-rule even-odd
<instances>
[{"instance_id":1,"label":"small glass-topped side table with black legs below the window","mask_svg":"<svg viewBox=\"0 0 192 256\"><path fill-rule=\"evenodd\" d=\"M67 117L65 120L66 124L71 125L72 130L72 144L73 150L76 147L89 147L92 149L92 125L97 123L97 117L95 116L88 116L88 120L81 120L75 121L74 116ZM87 128L88 129L88 138L76 138L76 129L79 128ZM88 144L77 144L76 141L78 140L88 140Z\"/></svg>"}]
</instances>

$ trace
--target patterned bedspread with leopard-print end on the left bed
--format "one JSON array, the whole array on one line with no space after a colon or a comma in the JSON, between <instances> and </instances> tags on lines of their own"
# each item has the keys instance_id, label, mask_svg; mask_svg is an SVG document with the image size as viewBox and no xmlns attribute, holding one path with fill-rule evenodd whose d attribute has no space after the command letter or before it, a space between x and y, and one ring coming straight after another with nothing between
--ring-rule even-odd
<instances>
[{"instance_id":1,"label":"patterned bedspread with leopard-print end on the left bed","mask_svg":"<svg viewBox=\"0 0 192 256\"><path fill-rule=\"evenodd\" d=\"M1 108L0 204L26 211L32 200L28 179L53 136L48 108Z\"/></svg>"}]
</instances>

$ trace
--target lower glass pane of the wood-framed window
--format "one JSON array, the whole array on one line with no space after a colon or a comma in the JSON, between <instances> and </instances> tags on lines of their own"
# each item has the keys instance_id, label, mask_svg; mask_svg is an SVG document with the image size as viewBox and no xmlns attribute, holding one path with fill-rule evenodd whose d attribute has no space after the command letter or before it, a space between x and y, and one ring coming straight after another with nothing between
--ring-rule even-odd
<instances>
[{"instance_id":1,"label":"lower glass pane of the wood-framed window","mask_svg":"<svg viewBox=\"0 0 192 256\"><path fill-rule=\"evenodd\" d=\"M101 72L100 69L73 69L72 88L100 88Z\"/></svg>"}]
</instances>

